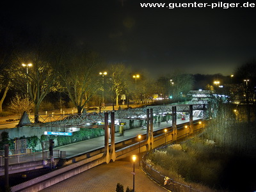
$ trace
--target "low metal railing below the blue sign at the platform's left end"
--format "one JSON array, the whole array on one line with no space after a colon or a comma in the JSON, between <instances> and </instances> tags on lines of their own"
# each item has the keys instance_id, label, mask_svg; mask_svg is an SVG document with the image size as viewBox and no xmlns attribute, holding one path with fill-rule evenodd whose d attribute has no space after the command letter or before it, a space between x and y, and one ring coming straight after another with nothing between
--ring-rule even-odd
<instances>
[{"instance_id":1,"label":"low metal railing below the blue sign at the platform's left end","mask_svg":"<svg viewBox=\"0 0 256 192\"><path fill-rule=\"evenodd\" d=\"M60 150L53 150L53 157L60 157ZM9 164L19 164L31 161L41 161L44 159L49 159L49 151L35 152L29 154L14 154L9 156ZM4 166L4 156L0 156L0 166Z\"/></svg>"}]
</instances>

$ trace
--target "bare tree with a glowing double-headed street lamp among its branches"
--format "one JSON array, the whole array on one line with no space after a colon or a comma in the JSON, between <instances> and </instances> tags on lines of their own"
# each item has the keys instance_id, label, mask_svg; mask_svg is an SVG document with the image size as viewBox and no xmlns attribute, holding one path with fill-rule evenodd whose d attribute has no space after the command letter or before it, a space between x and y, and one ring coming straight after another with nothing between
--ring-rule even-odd
<instances>
[{"instance_id":1,"label":"bare tree with a glowing double-headed street lamp among its branches","mask_svg":"<svg viewBox=\"0 0 256 192\"><path fill-rule=\"evenodd\" d=\"M39 122L39 109L42 100L51 92L56 79L56 70L52 65L58 65L50 59L51 52L43 51L44 47L36 47L31 52L16 54L17 70L15 84L28 94L35 105L35 123ZM31 67L22 67L31 63Z\"/></svg>"}]
</instances>

